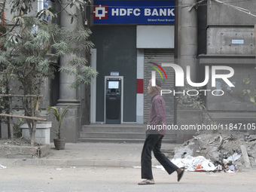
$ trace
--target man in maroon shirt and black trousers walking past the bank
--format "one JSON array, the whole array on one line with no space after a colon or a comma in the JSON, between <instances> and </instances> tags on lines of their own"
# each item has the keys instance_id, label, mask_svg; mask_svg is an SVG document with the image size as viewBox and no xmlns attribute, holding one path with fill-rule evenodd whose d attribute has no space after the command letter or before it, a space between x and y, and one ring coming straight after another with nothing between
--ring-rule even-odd
<instances>
[{"instance_id":1,"label":"man in maroon shirt and black trousers walking past the bank","mask_svg":"<svg viewBox=\"0 0 256 192\"><path fill-rule=\"evenodd\" d=\"M151 152L154 152L154 157L161 163L166 172L171 174L177 172L178 181L181 180L184 174L184 169L175 166L162 152L160 151L163 136L166 130L163 125L166 125L166 103L159 91L161 89L161 82L156 79L156 86L152 87L152 80L148 84L148 93L151 95L151 110L147 125L146 139L142 148L142 179L144 181L138 184L154 184L152 174ZM161 128L161 129L159 129Z\"/></svg>"}]
</instances>

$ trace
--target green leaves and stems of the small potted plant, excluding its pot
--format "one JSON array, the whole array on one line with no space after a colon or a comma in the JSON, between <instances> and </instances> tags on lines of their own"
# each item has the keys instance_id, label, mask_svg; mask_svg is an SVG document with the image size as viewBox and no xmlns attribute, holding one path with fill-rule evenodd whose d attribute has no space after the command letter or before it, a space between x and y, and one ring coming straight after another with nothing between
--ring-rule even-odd
<instances>
[{"instance_id":1,"label":"green leaves and stems of the small potted plant, excluding its pot","mask_svg":"<svg viewBox=\"0 0 256 192\"><path fill-rule=\"evenodd\" d=\"M62 132L62 120L65 117L65 114L69 111L69 106L66 106L66 108L64 108L64 110L62 111L62 108L57 109L56 107L48 107L47 108L47 112L52 111L54 117L56 118L56 121L58 122L58 130L55 130L55 134L57 136L58 139L62 139L61 137L61 132Z\"/></svg>"}]
</instances>

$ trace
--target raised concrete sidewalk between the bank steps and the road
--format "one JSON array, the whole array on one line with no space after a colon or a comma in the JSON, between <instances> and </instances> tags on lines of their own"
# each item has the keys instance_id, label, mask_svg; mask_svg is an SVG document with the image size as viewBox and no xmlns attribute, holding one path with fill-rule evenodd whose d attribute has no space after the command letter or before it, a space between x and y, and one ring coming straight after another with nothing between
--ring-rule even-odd
<instances>
[{"instance_id":1,"label":"raised concrete sidewalk between the bank steps and the road","mask_svg":"<svg viewBox=\"0 0 256 192\"><path fill-rule=\"evenodd\" d=\"M162 144L162 151L172 158L176 144ZM38 165L38 166L140 166L143 143L66 143L64 150L54 149L50 144L47 157L34 159L0 159L0 164ZM153 156L153 164L160 165Z\"/></svg>"}]
</instances>

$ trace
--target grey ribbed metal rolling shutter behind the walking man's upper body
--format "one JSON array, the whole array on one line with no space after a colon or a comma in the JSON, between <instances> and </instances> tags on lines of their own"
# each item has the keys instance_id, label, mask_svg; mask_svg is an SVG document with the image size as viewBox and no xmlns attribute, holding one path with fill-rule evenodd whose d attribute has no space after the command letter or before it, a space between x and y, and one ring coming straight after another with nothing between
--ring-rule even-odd
<instances>
[{"instance_id":1,"label":"grey ribbed metal rolling shutter behind the walking man's upper body","mask_svg":"<svg viewBox=\"0 0 256 192\"><path fill-rule=\"evenodd\" d=\"M148 123L149 112L151 107L151 96L148 94L148 81L151 79L151 71L154 66L150 62L155 62L161 66L162 63L174 63L174 50L172 49L145 49L144 50L144 123ZM160 69L159 69L160 70ZM156 78L162 83L162 90L174 90L174 70L170 67L163 67L166 72L167 80L163 72L163 80L158 72ZM163 94L166 102L166 120L167 123L174 123L174 96L172 93Z\"/></svg>"}]
</instances>

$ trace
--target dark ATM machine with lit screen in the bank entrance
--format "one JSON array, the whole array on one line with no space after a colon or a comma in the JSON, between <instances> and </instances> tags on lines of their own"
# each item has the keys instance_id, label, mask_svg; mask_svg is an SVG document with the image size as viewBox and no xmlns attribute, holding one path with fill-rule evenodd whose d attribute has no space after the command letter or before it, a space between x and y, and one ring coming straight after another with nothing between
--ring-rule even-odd
<instances>
[{"instance_id":1,"label":"dark ATM machine with lit screen in the bank entrance","mask_svg":"<svg viewBox=\"0 0 256 192\"><path fill-rule=\"evenodd\" d=\"M105 76L104 122L123 123L123 76Z\"/></svg>"}]
</instances>

